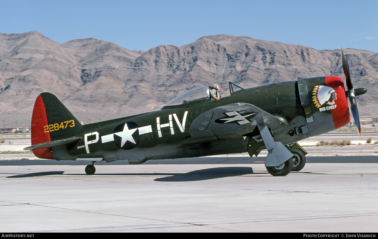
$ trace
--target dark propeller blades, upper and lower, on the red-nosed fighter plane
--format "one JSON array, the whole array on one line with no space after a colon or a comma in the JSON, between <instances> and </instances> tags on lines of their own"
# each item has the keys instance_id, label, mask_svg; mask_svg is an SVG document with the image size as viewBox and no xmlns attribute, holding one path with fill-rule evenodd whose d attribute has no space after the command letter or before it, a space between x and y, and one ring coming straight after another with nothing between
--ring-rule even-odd
<instances>
[{"instance_id":1,"label":"dark propeller blades, upper and lower, on the red-nosed fighter plane","mask_svg":"<svg viewBox=\"0 0 378 239\"><path fill-rule=\"evenodd\" d=\"M350 101L350 110L352 111L353 119L356 123L357 132L362 138L361 124L359 122L355 90L353 88L352 79L350 78L348 59L344 57L344 52L342 51L342 49L341 49L341 55L342 55L342 70L344 71L344 74L345 74L345 83L347 84L348 96L349 96L349 101Z\"/></svg>"}]
</instances>

